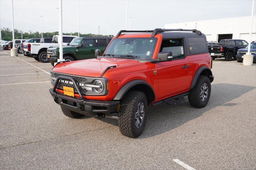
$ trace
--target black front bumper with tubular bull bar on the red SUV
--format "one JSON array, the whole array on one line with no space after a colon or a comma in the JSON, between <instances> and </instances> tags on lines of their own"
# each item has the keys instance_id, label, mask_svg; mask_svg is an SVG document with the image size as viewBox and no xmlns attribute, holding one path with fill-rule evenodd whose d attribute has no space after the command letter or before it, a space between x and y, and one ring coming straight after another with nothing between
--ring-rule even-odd
<instances>
[{"instance_id":1,"label":"black front bumper with tubular bull bar on the red SUV","mask_svg":"<svg viewBox=\"0 0 256 170\"><path fill-rule=\"evenodd\" d=\"M61 77L59 77L55 83L54 87L50 89L50 94L52 95L54 101L67 109L70 109L71 111L74 111L76 113L80 113L82 115L89 115L89 116L96 116L97 113L103 113L105 115L110 115L111 113L115 113L118 105L120 104L120 101L96 101L96 100L87 100L84 99L82 93L80 92L80 89L77 86L76 81L71 77L65 77L65 79L69 79L72 81L78 91L78 94L80 95L80 98L77 97L70 97L67 95L64 95L62 93L59 93L56 91L56 87L58 85L58 80Z\"/></svg>"}]
</instances>

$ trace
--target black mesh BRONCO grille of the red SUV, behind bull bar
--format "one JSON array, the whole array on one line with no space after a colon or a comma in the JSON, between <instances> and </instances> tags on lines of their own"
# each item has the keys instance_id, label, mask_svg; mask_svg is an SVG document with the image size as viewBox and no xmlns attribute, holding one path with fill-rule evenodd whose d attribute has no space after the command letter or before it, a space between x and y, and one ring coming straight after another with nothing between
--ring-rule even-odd
<instances>
[{"instance_id":1,"label":"black mesh BRONCO grille of the red SUV, behind bull bar","mask_svg":"<svg viewBox=\"0 0 256 170\"><path fill-rule=\"evenodd\" d=\"M78 87L79 87L79 89L80 89L80 91L81 91L82 94L85 95L86 92L88 91L88 90L86 90L85 87L79 86L79 83L84 84L84 83L87 81L87 79L86 79L85 77L77 77L77 76L74 76L74 75L66 75L66 74L60 74L60 73L54 73L54 76L55 76L56 78L58 78L59 76L72 77L72 78L76 81L76 83L78 83ZM62 79L62 80L66 80L66 79ZM67 81L70 81L70 80L67 80ZM75 93L78 93L78 91L76 90L76 87L75 87L74 85L68 84L68 83L63 83L63 82L60 82L60 81L59 81L59 82L58 82L58 85L57 85L57 88L63 90L63 86L66 86L66 87L73 87L73 88L74 88L74 92L75 92Z\"/></svg>"}]
</instances>

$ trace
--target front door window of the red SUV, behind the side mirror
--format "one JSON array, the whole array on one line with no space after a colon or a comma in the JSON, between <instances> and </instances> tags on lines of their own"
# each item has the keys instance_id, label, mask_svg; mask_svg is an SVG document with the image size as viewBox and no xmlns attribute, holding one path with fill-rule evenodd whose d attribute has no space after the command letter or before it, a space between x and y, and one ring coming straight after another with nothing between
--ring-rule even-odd
<instances>
[{"instance_id":1,"label":"front door window of the red SUV, behind the side mirror","mask_svg":"<svg viewBox=\"0 0 256 170\"><path fill-rule=\"evenodd\" d=\"M182 40L163 40L160 51L172 51L172 59L185 58Z\"/></svg>"}]
</instances>

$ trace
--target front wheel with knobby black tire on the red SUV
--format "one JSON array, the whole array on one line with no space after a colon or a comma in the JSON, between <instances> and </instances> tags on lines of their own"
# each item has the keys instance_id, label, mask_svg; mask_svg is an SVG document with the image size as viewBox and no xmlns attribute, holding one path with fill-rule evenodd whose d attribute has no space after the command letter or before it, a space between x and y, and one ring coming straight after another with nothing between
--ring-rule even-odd
<instances>
[{"instance_id":1,"label":"front wheel with knobby black tire on the red SUV","mask_svg":"<svg viewBox=\"0 0 256 170\"><path fill-rule=\"evenodd\" d=\"M140 91L129 91L121 101L118 127L127 137L136 138L142 134L146 125L148 102Z\"/></svg>"}]
</instances>

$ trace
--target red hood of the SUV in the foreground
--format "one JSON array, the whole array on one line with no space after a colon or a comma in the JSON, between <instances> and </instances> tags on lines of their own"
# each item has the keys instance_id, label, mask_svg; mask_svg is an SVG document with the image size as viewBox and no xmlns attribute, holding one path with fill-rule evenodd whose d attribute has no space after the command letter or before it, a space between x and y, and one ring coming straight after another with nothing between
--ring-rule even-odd
<instances>
[{"instance_id":1,"label":"red hood of the SUV in the foreground","mask_svg":"<svg viewBox=\"0 0 256 170\"><path fill-rule=\"evenodd\" d=\"M134 59L122 59L122 58L97 58L97 59L85 59L80 61L72 61L66 63L60 63L56 65L52 71L58 73L66 73L71 75L80 75L87 77L100 77L107 67L116 66L134 67L135 65L144 64Z\"/></svg>"}]
</instances>

